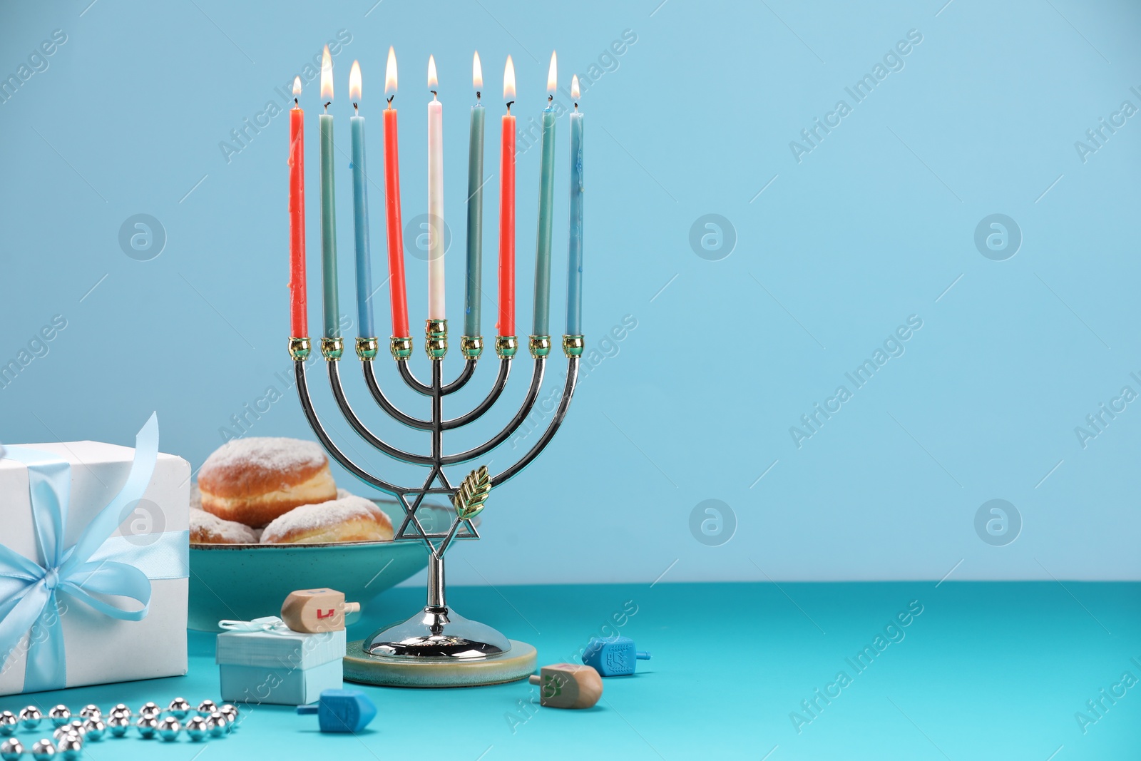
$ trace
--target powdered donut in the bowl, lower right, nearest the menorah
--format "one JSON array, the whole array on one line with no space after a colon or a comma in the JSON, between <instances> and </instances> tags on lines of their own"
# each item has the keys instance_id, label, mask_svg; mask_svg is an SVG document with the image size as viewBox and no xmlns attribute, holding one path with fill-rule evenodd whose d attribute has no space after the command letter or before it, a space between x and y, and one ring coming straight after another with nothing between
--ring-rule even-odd
<instances>
[{"instance_id":1,"label":"powdered donut in the bowl, lower right, nearest the menorah","mask_svg":"<svg viewBox=\"0 0 1141 761\"><path fill-rule=\"evenodd\" d=\"M266 526L262 544L299 542L390 542L393 521L363 496L349 494L321 504L302 504Z\"/></svg>"}]
</instances>

